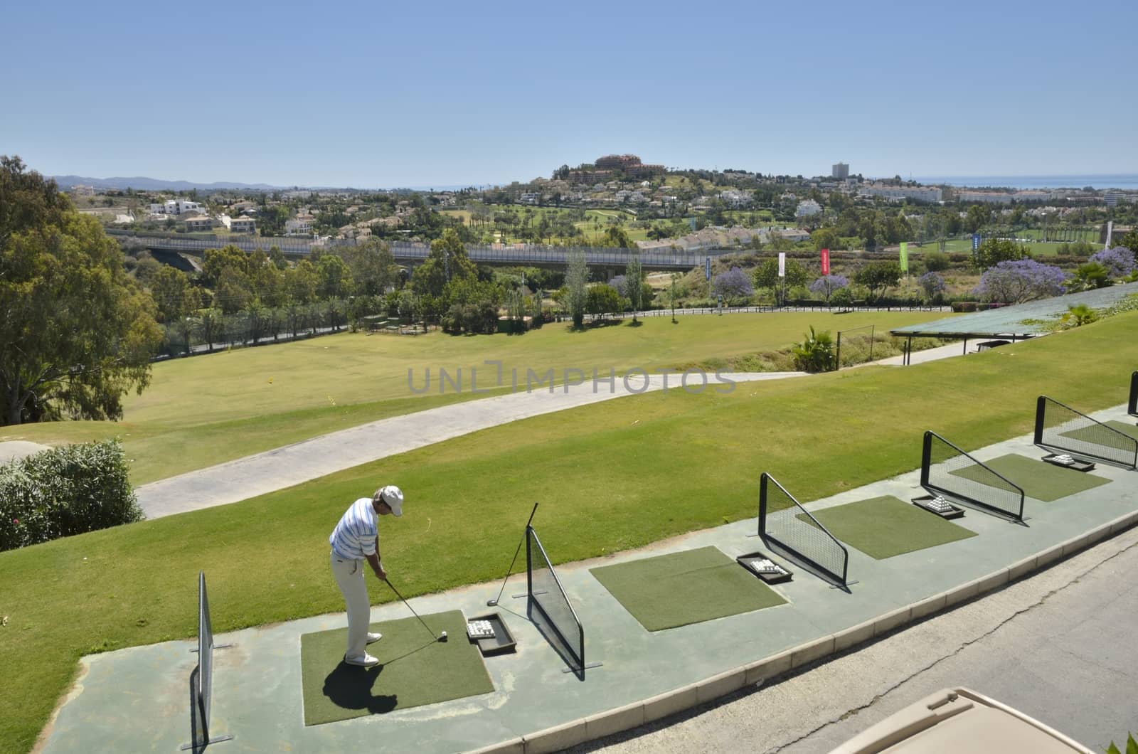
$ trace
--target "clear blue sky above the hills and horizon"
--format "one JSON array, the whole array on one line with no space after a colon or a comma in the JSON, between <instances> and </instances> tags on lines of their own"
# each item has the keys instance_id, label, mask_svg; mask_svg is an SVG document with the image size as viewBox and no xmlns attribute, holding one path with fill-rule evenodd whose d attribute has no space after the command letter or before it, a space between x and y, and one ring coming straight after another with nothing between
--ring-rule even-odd
<instances>
[{"instance_id":1,"label":"clear blue sky above the hills and horizon","mask_svg":"<svg viewBox=\"0 0 1138 754\"><path fill-rule=\"evenodd\" d=\"M13 3L0 154L279 186L506 182L626 151L1138 173L1136 21L1133 0Z\"/></svg>"}]
</instances>

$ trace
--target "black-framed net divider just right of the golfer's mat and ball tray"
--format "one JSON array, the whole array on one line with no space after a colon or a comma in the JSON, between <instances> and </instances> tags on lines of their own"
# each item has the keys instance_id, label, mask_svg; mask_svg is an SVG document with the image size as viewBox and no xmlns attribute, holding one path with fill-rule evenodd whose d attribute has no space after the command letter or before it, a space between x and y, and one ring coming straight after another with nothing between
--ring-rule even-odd
<instances>
[{"instance_id":1,"label":"black-framed net divider just right of the golfer's mat and ball tray","mask_svg":"<svg viewBox=\"0 0 1138 754\"><path fill-rule=\"evenodd\" d=\"M530 608L537 608L538 618L544 618L549 628L545 631L539 624L538 630L546 634L569 665L563 672L576 673L584 679L586 669L600 667L601 663L585 663L585 628L531 525L526 527L526 591Z\"/></svg>"}]
</instances>

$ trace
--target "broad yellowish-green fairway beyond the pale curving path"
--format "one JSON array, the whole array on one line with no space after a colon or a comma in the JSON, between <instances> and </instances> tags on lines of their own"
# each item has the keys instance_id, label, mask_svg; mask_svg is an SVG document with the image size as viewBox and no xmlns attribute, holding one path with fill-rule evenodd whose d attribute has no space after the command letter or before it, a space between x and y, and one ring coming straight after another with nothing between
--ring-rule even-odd
<instances>
[{"instance_id":1,"label":"broad yellowish-green fairway beyond the pale curving path","mask_svg":"<svg viewBox=\"0 0 1138 754\"><path fill-rule=\"evenodd\" d=\"M346 429L368 421L411 413L455 401L485 398L471 391L495 388L502 362L501 394L517 369L521 390L527 370L566 369L587 375L596 368L618 375L684 368L711 359L776 351L817 330L846 327L849 314L793 312L720 317L648 318L585 333L563 323L525 336L419 337L330 335L311 341L242 349L157 363L142 395L127 395L122 421L51 421L0 427L0 442L30 440L46 444L118 436L131 460L131 481L145 484L234 458ZM865 312L858 325L877 329L925 321L929 312ZM935 317L941 317L937 314ZM447 384L439 394L439 369L461 372L462 392ZM427 370L429 388L422 394ZM409 384L409 372L410 384ZM537 377L535 376L535 380Z\"/></svg>"}]
</instances>

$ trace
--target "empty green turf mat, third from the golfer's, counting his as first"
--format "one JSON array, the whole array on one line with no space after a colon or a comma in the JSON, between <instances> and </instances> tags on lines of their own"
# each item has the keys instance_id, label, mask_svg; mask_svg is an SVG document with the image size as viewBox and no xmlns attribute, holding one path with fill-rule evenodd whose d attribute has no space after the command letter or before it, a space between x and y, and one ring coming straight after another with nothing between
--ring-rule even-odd
<instances>
[{"instance_id":1,"label":"empty green turf mat, third from the golfer's, counting his as first","mask_svg":"<svg viewBox=\"0 0 1138 754\"><path fill-rule=\"evenodd\" d=\"M976 535L890 495L810 513L839 540L877 560ZM810 521L805 514L798 517Z\"/></svg>"}]
</instances>

